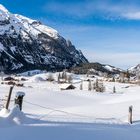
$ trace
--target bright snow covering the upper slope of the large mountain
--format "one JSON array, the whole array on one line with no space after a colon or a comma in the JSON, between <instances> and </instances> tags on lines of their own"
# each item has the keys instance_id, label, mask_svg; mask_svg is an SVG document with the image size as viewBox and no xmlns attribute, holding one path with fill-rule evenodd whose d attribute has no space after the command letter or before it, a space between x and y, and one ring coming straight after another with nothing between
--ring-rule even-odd
<instances>
[{"instance_id":1,"label":"bright snow covering the upper slope of the large mountain","mask_svg":"<svg viewBox=\"0 0 140 140\"><path fill-rule=\"evenodd\" d=\"M8 24L0 26L1 35L3 35L5 32L11 35L16 31L17 34L22 34L24 39L29 39L28 34L30 34L33 38L37 38L40 33L45 33L54 39L59 38L59 34L55 29L42 25L39 21L32 20L25 16L12 14L1 4L0 21L9 21ZM14 27L14 30L11 29L12 26ZM17 35L15 35L15 37L17 37Z\"/></svg>"}]
</instances>

